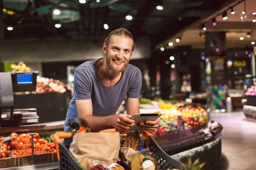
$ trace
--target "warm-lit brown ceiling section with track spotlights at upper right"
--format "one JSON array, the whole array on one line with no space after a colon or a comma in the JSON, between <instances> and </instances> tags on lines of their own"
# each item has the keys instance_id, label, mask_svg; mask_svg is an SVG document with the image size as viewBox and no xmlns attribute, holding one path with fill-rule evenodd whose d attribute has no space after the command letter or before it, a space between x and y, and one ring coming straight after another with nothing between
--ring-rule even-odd
<instances>
[{"instance_id":1,"label":"warm-lit brown ceiling section with track spotlights at upper right","mask_svg":"<svg viewBox=\"0 0 256 170\"><path fill-rule=\"evenodd\" d=\"M234 14L231 14L232 8L230 7L232 6ZM225 11L227 12L227 19L223 20L222 14ZM246 13L242 14L243 11ZM215 19L215 26L212 25L212 19ZM202 29L202 24L206 28L205 31ZM175 32L175 34L159 43L156 49L160 47L173 49L178 46L204 48L204 33L208 31L225 31L227 48L253 47L256 42L256 0L230 2L208 17L197 20L190 26ZM247 37L247 33L250 33L250 37ZM181 37L180 42L176 42L177 37ZM244 39L240 40L240 37ZM169 46L169 42L173 42L173 45Z\"/></svg>"}]
</instances>

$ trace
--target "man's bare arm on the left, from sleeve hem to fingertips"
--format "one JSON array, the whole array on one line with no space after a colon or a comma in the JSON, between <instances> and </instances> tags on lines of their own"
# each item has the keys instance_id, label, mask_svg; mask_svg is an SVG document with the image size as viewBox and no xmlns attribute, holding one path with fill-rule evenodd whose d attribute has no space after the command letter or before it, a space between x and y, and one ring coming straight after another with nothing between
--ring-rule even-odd
<instances>
[{"instance_id":1,"label":"man's bare arm on the left, from sleeve hem to fingertips","mask_svg":"<svg viewBox=\"0 0 256 170\"><path fill-rule=\"evenodd\" d=\"M91 99L76 99L76 108L78 116L81 117L82 125L90 127L93 131L100 131L110 127L114 127L119 131L125 131L134 126L134 120L131 120L130 115L118 114L104 117L92 116L93 107Z\"/></svg>"}]
</instances>

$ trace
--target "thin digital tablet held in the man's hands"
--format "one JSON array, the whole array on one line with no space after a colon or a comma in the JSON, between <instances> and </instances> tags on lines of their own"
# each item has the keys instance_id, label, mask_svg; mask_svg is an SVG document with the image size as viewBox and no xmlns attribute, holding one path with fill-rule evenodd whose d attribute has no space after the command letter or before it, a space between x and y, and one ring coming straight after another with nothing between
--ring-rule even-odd
<instances>
[{"instance_id":1,"label":"thin digital tablet held in the man's hands","mask_svg":"<svg viewBox=\"0 0 256 170\"><path fill-rule=\"evenodd\" d=\"M139 131L142 130L137 124L146 122L148 120L156 120L160 116L162 116L163 113L135 113L134 116L131 117L135 121L135 125L131 127L128 131Z\"/></svg>"}]
</instances>

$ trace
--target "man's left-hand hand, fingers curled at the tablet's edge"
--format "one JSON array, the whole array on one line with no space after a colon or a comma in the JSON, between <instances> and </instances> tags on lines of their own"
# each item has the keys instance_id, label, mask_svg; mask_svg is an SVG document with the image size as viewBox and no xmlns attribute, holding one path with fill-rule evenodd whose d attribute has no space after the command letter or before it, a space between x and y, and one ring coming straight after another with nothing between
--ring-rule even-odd
<instances>
[{"instance_id":1,"label":"man's left-hand hand, fingers curled at the tablet's edge","mask_svg":"<svg viewBox=\"0 0 256 170\"><path fill-rule=\"evenodd\" d=\"M113 116L111 123L117 131L126 131L135 125L135 121L131 117L128 114L118 114Z\"/></svg>"}]
</instances>

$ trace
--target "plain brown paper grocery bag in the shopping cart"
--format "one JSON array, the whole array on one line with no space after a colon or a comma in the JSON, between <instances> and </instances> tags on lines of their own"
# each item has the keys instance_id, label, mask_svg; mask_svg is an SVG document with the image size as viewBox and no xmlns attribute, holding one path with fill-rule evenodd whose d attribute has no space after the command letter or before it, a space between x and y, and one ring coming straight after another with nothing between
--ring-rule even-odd
<instances>
[{"instance_id":1,"label":"plain brown paper grocery bag in the shopping cart","mask_svg":"<svg viewBox=\"0 0 256 170\"><path fill-rule=\"evenodd\" d=\"M120 148L119 133L76 133L70 152L76 160L99 159L108 164L116 163Z\"/></svg>"}]
</instances>

